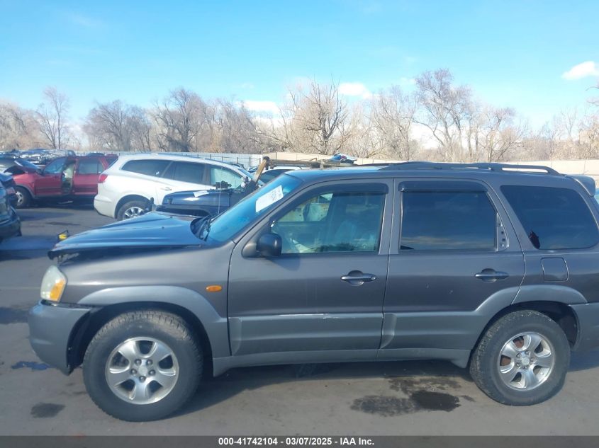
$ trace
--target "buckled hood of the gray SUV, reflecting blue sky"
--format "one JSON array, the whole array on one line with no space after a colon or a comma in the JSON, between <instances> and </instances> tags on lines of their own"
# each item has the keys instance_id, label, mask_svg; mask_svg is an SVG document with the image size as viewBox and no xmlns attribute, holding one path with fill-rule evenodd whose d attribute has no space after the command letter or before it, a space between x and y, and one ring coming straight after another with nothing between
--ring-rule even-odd
<instances>
[{"instance_id":1,"label":"buckled hood of the gray SUV, reflecting blue sky","mask_svg":"<svg viewBox=\"0 0 599 448\"><path fill-rule=\"evenodd\" d=\"M52 259L67 253L201 246L203 241L191 232L192 220L152 212L71 236L57 243L48 256Z\"/></svg>"}]
</instances>

